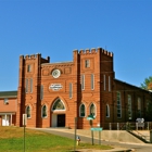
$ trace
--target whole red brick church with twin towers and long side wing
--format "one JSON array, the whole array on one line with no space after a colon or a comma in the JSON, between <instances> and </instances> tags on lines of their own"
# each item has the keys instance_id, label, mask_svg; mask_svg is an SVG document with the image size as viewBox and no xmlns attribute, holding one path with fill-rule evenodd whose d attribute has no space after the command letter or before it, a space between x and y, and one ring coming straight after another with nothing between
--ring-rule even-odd
<instances>
[{"instance_id":1,"label":"whole red brick church with twin towers and long side wing","mask_svg":"<svg viewBox=\"0 0 152 152\"><path fill-rule=\"evenodd\" d=\"M41 54L20 56L18 88L14 98L3 96L0 122L27 127L89 128L88 115L93 126L107 123L135 122L145 117L152 93L115 78L113 53L98 49L74 50L72 62L51 63ZM16 93L16 96L15 96ZM16 99L13 112L4 111ZM13 119L12 119L13 117ZM1 123L2 124L2 123Z\"/></svg>"}]
</instances>

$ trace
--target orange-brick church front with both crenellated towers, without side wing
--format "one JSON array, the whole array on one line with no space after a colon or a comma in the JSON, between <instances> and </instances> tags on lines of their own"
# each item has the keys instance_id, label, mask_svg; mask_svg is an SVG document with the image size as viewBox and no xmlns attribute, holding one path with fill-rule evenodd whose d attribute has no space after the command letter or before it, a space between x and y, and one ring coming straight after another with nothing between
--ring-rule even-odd
<instances>
[{"instance_id":1,"label":"orange-brick church front with both crenellated towers, without side wing","mask_svg":"<svg viewBox=\"0 0 152 152\"><path fill-rule=\"evenodd\" d=\"M96 117L92 125L102 124L113 78L113 53L102 48L74 50L72 62L21 55L16 125L23 125L24 113L27 127L74 128L76 121L77 128L89 128L88 115Z\"/></svg>"}]
</instances>

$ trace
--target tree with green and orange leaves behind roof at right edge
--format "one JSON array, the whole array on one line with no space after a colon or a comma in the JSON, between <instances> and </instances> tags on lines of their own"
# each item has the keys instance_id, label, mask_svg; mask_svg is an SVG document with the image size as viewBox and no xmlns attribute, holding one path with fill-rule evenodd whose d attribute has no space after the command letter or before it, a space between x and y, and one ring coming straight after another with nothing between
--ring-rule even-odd
<instances>
[{"instance_id":1,"label":"tree with green and orange leaves behind roof at right edge","mask_svg":"<svg viewBox=\"0 0 152 152\"><path fill-rule=\"evenodd\" d=\"M152 76L149 76L144 79L143 84L141 84L141 88L145 90L152 90Z\"/></svg>"}]
</instances>

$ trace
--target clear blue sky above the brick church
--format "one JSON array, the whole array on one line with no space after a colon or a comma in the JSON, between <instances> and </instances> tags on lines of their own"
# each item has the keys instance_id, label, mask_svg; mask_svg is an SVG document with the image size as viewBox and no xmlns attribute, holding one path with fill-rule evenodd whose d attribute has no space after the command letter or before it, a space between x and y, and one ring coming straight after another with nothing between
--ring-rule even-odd
<instances>
[{"instance_id":1,"label":"clear blue sky above the brick church","mask_svg":"<svg viewBox=\"0 0 152 152\"><path fill-rule=\"evenodd\" d=\"M98 47L114 53L117 79L152 76L152 1L0 0L0 91L17 90L21 54L65 62Z\"/></svg>"}]
</instances>

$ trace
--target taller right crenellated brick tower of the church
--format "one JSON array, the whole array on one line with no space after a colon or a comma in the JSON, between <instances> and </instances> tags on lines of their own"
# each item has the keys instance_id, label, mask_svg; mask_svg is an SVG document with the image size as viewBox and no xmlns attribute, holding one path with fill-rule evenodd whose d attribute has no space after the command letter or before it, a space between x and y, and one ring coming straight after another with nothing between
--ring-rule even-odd
<instances>
[{"instance_id":1,"label":"taller right crenellated brick tower of the church","mask_svg":"<svg viewBox=\"0 0 152 152\"><path fill-rule=\"evenodd\" d=\"M102 124L106 121L106 104L110 105L113 101L113 53L102 48L79 52L75 50L74 63L77 63L78 75L77 115L79 116L80 107L85 105L86 116L92 114L96 117L92 125ZM88 125L87 118L78 118L78 128L88 128Z\"/></svg>"}]
</instances>

